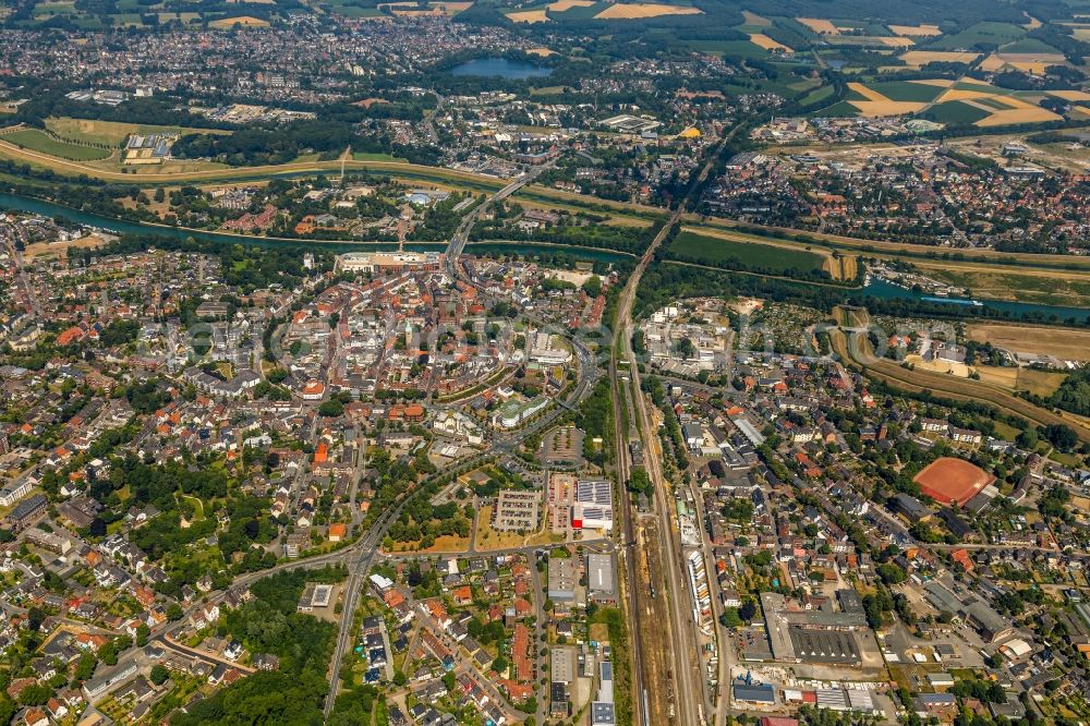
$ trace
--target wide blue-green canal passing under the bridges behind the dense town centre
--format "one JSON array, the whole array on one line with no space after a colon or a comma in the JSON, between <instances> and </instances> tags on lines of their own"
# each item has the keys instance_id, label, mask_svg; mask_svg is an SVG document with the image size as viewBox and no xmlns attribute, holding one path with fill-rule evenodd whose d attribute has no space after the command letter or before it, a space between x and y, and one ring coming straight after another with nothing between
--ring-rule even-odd
<instances>
[{"instance_id":1,"label":"wide blue-green canal passing under the bridges behind the dense town centre","mask_svg":"<svg viewBox=\"0 0 1090 726\"><path fill-rule=\"evenodd\" d=\"M223 234L221 232L206 232L202 230L178 229L158 225L147 225L124 219L104 217L80 209L36 199L27 196L13 194L0 194L0 208L16 209L29 214L41 215L44 217L64 217L84 227L97 227L117 234L153 234L168 237L175 240L193 238L227 244L254 244L262 247L295 247L295 249L318 249L329 252L352 252L358 250L395 250L397 244L392 242L323 242L320 240L288 240L269 239L267 237L256 237L252 234ZM446 245L437 242L410 242L405 249L417 252L438 251ZM494 254L564 254L577 259L590 259L593 262L615 262L618 259L632 259L631 255L619 254L609 250L592 250L586 247L570 247L560 244L517 244L510 242L483 242L472 243L468 250L476 253ZM862 294L881 298L883 300L920 300L925 298L924 293L913 292L899 288L877 277L871 279L870 285L862 289ZM1078 320L1090 320L1090 308L1065 307L1061 305L1041 305L1037 303L1009 302L1003 300L981 300L985 307L1006 313L1012 319L1018 319L1026 313L1037 313L1049 317L1055 315L1061 320L1074 317Z\"/></svg>"}]
</instances>

